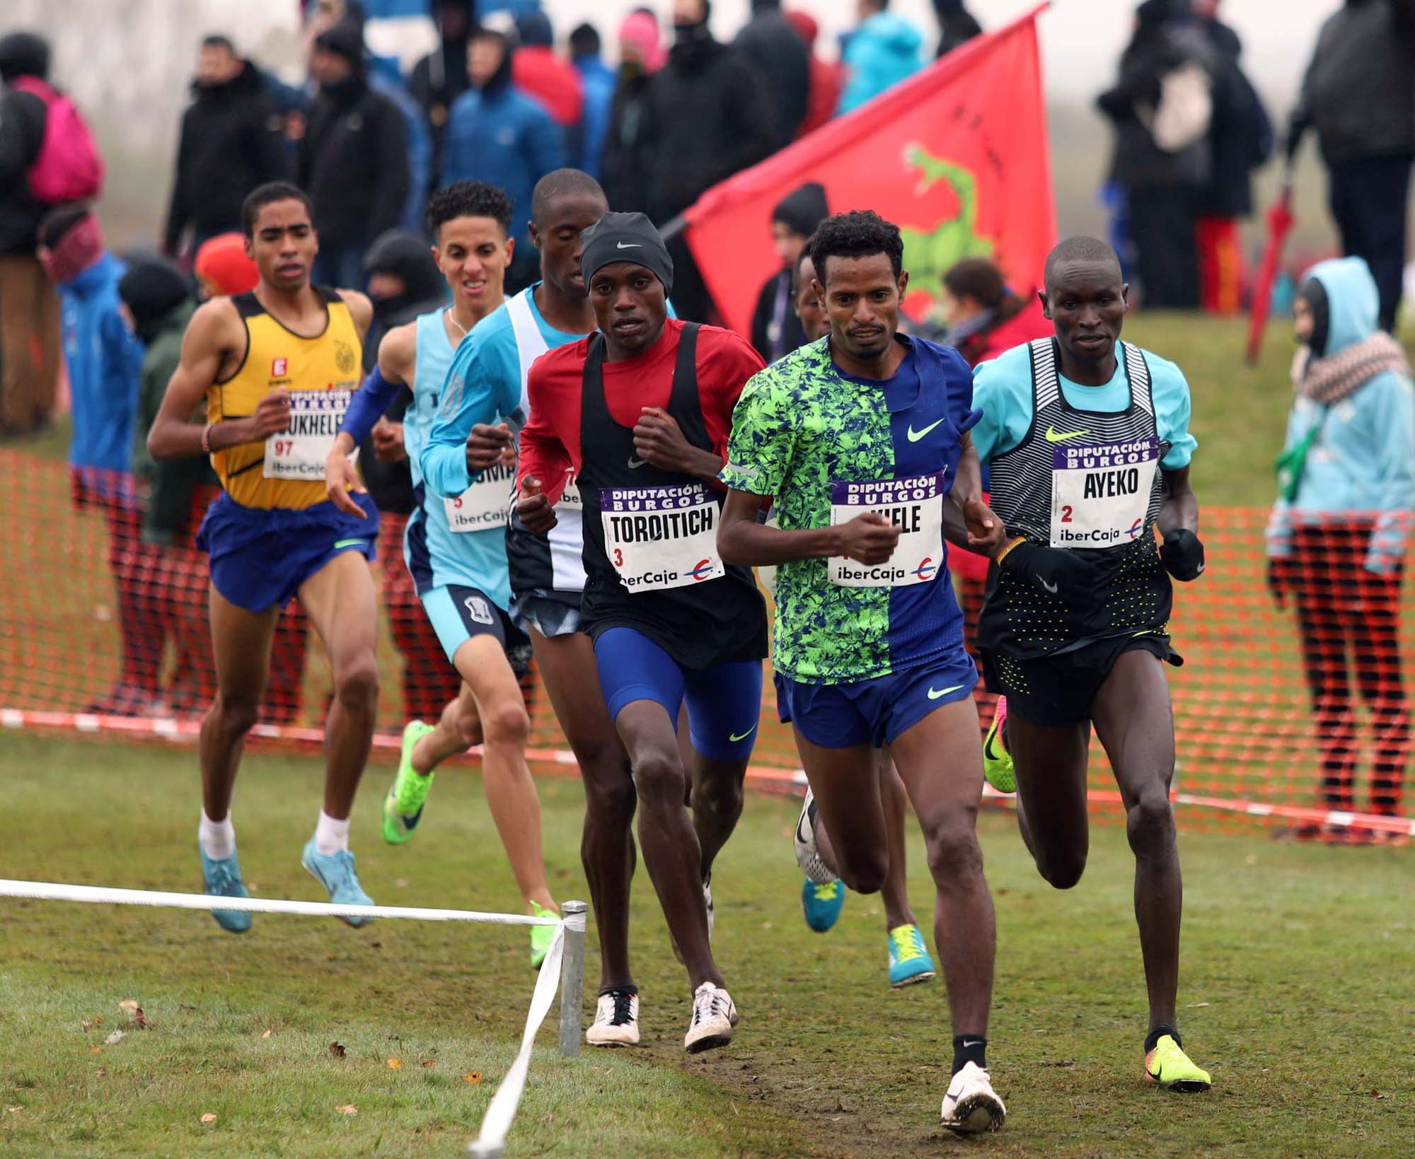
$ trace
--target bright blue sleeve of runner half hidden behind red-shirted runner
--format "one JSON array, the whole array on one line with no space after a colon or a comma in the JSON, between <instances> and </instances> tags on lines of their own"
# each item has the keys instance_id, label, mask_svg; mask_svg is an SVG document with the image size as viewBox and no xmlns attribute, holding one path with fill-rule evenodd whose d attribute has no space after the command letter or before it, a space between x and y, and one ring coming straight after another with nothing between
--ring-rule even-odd
<instances>
[{"instance_id":1,"label":"bright blue sleeve of runner half hidden behind red-shirted runner","mask_svg":"<svg viewBox=\"0 0 1415 1159\"><path fill-rule=\"evenodd\" d=\"M444 499L454 499L474 482L467 471L471 428L477 423L495 423L521 401L515 343L497 342L497 332L474 331L457 348L440 392L441 406L419 455L427 488Z\"/></svg>"}]
</instances>

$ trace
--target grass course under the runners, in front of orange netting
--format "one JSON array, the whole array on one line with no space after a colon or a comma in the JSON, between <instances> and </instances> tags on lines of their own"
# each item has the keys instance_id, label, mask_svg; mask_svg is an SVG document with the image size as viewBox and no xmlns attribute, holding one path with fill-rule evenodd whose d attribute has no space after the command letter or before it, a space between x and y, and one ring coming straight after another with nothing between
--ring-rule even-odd
<instances>
[{"instance_id":1,"label":"grass course under the runners, in front of orange netting","mask_svg":"<svg viewBox=\"0 0 1415 1159\"><path fill-rule=\"evenodd\" d=\"M0 875L197 888L191 753L4 734L0 770ZM475 772L441 777L426 828L399 849L378 840L388 775L371 770L355 814L374 898L515 910ZM320 898L299 866L320 776L314 759L248 758L233 818L253 892ZM553 889L583 898L580 786L541 784ZM887 989L874 899L852 896L831 934L805 929L792 818L791 804L750 797L713 878L716 948L743 1015L733 1045L682 1053L686 987L641 871L631 939L648 1045L567 1061L546 1029L511 1155L1411 1155L1408 851L1257 831L1183 838L1180 1008L1215 1087L1173 1097L1140 1081L1124 833L1098 827L1085 881L1056 893L1012 818L989 813L990 1063L1010 1115L999 1136L958 1141L937 1126L949 1060L941 984ZM921 857L910 869L923 917ZM0 947L3 1156L461 1155L533 981L524 931L485 926L355 931L258 914L232 937L194 913L0 899ZM591 989L597 968L591 923ZM129 1025L125 999L151 1029ZM126 1035L109 1045L115 1029Z\"/></svg>"}]
</instances>

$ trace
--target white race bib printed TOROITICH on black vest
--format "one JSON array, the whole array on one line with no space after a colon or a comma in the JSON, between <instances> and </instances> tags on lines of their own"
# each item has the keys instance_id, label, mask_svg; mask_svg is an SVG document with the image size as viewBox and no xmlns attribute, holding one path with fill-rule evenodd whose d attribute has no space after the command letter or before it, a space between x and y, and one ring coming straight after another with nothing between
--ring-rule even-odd
<instances>
[{"instance_id":1,"label":"white race bib printed TOROITICH on black vest","mask_svg":"<svg viewBox=\"0 0 1415 1159\"><path fill-rule=\"evenodd\" d=\"M686 588L724 575L717 514L706 483L600 489L604 554L631 592Z\"/></svg>"}]
</instances>

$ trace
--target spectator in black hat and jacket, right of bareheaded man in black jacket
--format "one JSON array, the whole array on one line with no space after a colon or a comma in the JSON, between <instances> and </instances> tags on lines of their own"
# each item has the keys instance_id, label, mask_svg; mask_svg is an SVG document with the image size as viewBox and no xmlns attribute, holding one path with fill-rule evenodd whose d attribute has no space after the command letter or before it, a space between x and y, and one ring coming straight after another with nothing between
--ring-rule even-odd
<instances>
[{"instance_id":1,"label":"spectator in black hat and jacket, right of bareheaded man in black jacket","mask_svg":"<svg viewBox=\"0 0 1415 1159\"><path fill-rule=\"evenodd\" d=\"M369 88L359 25L342 20L314 38L320 92L300 141L300 185L314 201L314 280L355 287L364 252L402 218L409 191L403 114Z\"/></svg>"}]
</instances>

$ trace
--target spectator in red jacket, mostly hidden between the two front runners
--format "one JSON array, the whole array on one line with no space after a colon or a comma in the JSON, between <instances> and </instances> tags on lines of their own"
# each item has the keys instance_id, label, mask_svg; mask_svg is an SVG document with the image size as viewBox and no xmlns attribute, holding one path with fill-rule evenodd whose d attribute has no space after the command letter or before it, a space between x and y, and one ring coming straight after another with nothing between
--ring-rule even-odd
<instances>
[{"instance_id":1,"label":"spectator in red jacket, mostly hidden between the two front runners","mask_svg":"<svg viewBox=\"0 0 1415 1159\"><path fill-rule=\"evenodd\" d=\"M1013 294L999 270L986 257L965 257L944 274L944 321L948 324L945 342L955 348L968 365L976 367L1003 351L1051 335L1051 324L1041 312L1036 294ZM983 502L988 502L988 478L983 473ZM958 602L964 609L964 646L979 664L978 613L982 611L988 584L988 560L961 547L949 550L948 567L958 577ZM979 669L981 670L981 669ZM982 726L992 724L998 710L996 693L989 693L983 681L974 691Z\"/></svg>"}]
</instances>

